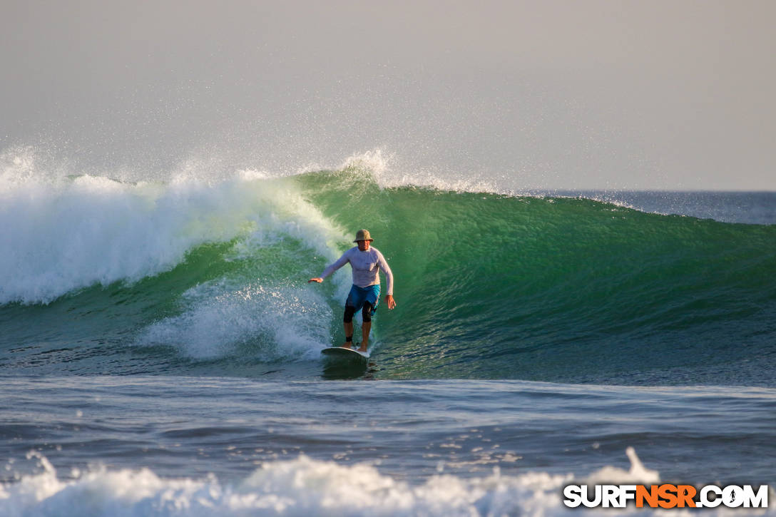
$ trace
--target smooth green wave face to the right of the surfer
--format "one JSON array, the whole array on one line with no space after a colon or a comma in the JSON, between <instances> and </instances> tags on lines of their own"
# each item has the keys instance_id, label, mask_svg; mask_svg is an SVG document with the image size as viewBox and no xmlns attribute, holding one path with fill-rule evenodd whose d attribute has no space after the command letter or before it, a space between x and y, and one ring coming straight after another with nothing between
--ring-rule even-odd
<instances>
[{"instance_id":1,"label":"smooth green wave face to the right of the surfer","mask_svg":"<svg viewBox=\"0 0 776 517\"><path fill-rule=\"evenodd\" d=\"M390 261L391 375L651 383L702 367L736 382L772 349L776 227L342 176L302 181Z\"/></svg>"}]
</instances>

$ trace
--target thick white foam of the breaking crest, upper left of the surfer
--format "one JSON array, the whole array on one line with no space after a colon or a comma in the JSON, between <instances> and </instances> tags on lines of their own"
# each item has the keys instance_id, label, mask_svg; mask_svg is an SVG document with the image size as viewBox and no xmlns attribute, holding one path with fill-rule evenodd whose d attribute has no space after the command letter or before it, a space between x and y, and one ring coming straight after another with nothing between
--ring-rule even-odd
<instances>
[{"instance_id":1,"label":"thick white foam of the breaking crest, upper left of the surfer","mask_svg":"<svg viewBox=\"0 0 776 517\"><path fill-rule=\"evenodd\" d=\"M0 304L48 304L95 284L134 282L172 269L197 245L238 236L251 245L298 238L329 257L342 234L293 182L260 172L121 182L41 171L26 155L4 159Z\"/></svg>"}]
</instances>

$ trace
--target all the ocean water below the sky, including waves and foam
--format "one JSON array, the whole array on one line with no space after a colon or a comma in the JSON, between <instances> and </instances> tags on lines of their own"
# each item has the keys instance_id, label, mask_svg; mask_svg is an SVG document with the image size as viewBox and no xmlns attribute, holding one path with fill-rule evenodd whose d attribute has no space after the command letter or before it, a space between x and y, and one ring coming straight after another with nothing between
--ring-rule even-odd
<instances>
[{"instance_id":1,"label":"all the ocean water below the sky, including waves and foam","mask_svg":"<svg viewBox=\"0 0 776 517\"><path fill-rule=\"evenodd\" d=\"M776 193L2 167L0 515L561 515L594 479L774 513ZM326 365L350 272L307 279L360 227L398 305Z\"/></svg>"}]
</instances>

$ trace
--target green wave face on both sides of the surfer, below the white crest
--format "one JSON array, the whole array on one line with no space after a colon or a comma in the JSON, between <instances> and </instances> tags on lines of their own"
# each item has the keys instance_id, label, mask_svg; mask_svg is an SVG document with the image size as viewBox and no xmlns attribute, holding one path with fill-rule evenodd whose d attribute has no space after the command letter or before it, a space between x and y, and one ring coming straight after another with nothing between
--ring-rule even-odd
<instances>
[{"instance_id":1,"label":"green wave face on both sides of the surfer, below the white crest","mask_svg":"<svg viewBox=\"0 0 776 517\"><path fill-rule=\"evenodd\" d=\"M230 217L198 213L186 231L209 224L228 238L204 239L174 267L0 307L2 364L235 374L316 365L320 348L341 340L349 271L307 279L365 227L393 269L398 304L376 316L376 376L774 382L761 360L776 341L774 226L381 188L356 168L253 179L208 199ZM214 232L213 220L240 227Z\"/></svg>"}]
</instances>

